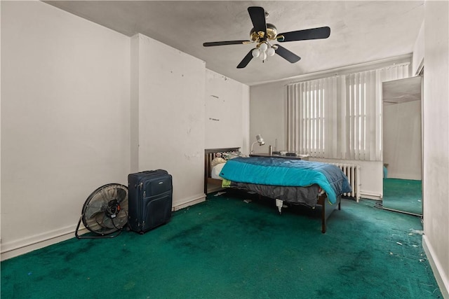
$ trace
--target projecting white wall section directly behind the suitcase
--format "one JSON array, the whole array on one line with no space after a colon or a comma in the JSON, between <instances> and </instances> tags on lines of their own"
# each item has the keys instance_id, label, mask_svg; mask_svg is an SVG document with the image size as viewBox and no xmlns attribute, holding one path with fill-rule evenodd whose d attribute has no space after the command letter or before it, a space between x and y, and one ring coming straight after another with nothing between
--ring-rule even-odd
<instances>
[{"instance_id":1,"label":"projecting white wall section directly behind the suitcase","mask_svg":"<svg viewBox=\"0 0 449 299\"><path fill-rule=\"evenodd\" d=\"M138 110L134 104L131 116L138 118L138 144L132 145L138 147L138 169L133 171L166 169L173 176L175 208L202 201L205 63L142 34L132 40L133 53L138 47L132 70L138 77L133 93L138 99L132 99Z\"/></svg>"}]
</instances>

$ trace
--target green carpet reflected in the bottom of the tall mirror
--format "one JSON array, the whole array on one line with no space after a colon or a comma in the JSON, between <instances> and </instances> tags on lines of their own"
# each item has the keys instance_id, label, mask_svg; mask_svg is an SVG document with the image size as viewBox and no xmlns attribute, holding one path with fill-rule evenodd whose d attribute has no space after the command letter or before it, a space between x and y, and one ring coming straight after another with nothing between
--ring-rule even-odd
<instances>
[{"instance_id":1,"label":"green carpet reflected in the bottom of the tall mirror","mask_svg":"<svg viewBox=\"0 0 449 299\"><path fill-rule=\"evenodd\" d=\"M422 181L384 179L385 208L422 215Z\"/></svg>"}]
</instances>

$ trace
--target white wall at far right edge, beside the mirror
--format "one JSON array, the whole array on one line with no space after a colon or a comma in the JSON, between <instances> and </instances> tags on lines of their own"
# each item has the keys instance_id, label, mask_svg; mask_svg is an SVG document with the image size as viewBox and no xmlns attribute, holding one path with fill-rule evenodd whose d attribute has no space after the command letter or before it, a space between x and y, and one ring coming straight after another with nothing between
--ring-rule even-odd
<instances>
[{"instance_id":1,"label":"white wall at far right edge, beside the mirror","mask_svg":"<svg viewBox=\"0 0 449 299\"><path fill-rule=\"evenodd\" d=\"M449 2L424 5L423 244L449 298Z\"/></svg>"}]
</instances>

